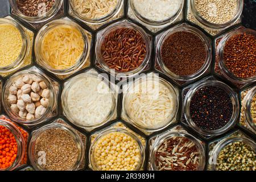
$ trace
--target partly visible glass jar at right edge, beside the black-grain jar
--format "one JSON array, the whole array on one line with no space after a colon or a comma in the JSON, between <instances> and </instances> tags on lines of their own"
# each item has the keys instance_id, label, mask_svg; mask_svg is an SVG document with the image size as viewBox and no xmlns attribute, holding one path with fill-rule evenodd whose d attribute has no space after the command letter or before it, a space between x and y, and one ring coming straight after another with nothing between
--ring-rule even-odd
<instances>
[{"instance_id":1,"label":"partly visible glass jar at right edge, beside the black-grain jar","mask_svg":"<svg viewBox=\"0 0 256 182\"><path fill-rule=\"evenodd\" d=\"M256 86L241 92L240 125L256 134Z\"/></svg>"}]
</instances>

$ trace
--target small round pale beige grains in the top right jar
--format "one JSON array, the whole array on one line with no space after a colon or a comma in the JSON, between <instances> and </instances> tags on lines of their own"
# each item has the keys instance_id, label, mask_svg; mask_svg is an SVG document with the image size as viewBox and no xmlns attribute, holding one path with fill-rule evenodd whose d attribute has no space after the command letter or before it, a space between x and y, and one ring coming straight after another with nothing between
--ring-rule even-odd
<instances>
[{"instance_id":1,"label":"small round pale beige grains in the top right jar","mask_svg":"<svg viewBox=\"0 0 256 182\"><path fill-rule=\"evenodd\" d=\"M223 24L234 18L237 13L237 0L195 0L196 10L210 23Z\"/></svg>"}]
</instances>

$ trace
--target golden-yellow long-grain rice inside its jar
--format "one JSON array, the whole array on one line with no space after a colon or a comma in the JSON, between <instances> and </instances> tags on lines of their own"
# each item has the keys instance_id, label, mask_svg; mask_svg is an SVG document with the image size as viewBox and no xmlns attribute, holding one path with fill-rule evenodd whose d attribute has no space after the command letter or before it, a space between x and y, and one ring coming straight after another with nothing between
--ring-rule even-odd
<instances>
[{"instance_id":1,"label":"golden-yellow long-grain rice inside its jar","mask_svg":"<svg viewBox=\"0 0 256 182\"><path fill-rule=\"evenodd\" d=\"M53 69L68 69L77 63L84 51L84 39L80 30L60 25L49 30L43 38L42 56Z\"/></svg>"}]
</instances>

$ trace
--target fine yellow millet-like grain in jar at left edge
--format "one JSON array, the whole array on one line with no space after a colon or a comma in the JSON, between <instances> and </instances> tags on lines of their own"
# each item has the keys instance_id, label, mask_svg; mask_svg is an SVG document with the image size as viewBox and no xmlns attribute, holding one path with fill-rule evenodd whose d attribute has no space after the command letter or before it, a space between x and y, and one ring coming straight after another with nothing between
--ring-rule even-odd
<instances>
[{"instance_id":1,"label":"fine yellow millet-like grain in jar at left edge","mask_svg":"<svg viewBox=\"0 0 256 182\"><path fill-rule=\"evenodd\" d=\"M0 68L15 63L22 51L22 36L15 26L0 24Z\"/></svg>"}]
</instances>

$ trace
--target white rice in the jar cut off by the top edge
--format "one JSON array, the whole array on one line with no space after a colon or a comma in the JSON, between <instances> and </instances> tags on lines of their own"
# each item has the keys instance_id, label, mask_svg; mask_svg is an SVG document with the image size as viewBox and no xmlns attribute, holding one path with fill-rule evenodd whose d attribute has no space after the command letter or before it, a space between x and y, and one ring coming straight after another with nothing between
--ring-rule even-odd
<instances>
[{"instance_id":1,"label":"white rice in the jar cut off by the top edge","mask_svg":"<svg viewBox=\"0 0 256 182\"><path fill-rule=\"evenodd\" d=\"M132 0L137 12L146 19L162 21L179 10L181 0Z\"/></svg>"}]
</instances>

